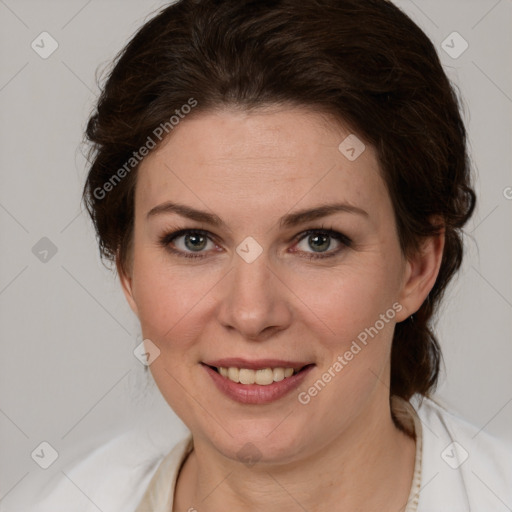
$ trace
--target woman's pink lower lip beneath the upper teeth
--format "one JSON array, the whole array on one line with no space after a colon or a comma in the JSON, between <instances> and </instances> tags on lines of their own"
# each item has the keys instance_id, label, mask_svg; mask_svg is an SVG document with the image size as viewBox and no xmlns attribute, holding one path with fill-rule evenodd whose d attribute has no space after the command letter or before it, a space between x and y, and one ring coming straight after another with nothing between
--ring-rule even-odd
<instances>
[{"instance_id":1,"label":"woman's pink lower lip beneath the upper teeth","mask_svg":"<svg viewBox=\"0 0 512 512\"><path fill-rule=\"evenodd\" d=\"M202 364L203 368L208 372L217 389L222 391L226 396L242 404L268 404L275 402L284 397L292 390L296 389L314 365L308 366L299 373L287 377L280 382L273 382L268 386L259 384L239 384L223 377L209 366Z\"/></svg>"}]
</instances>

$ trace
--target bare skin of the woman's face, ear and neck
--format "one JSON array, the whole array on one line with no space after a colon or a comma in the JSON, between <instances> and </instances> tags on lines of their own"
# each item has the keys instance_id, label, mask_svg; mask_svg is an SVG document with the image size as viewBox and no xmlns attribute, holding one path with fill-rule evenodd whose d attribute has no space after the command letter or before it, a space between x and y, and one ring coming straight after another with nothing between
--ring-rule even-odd
<instances>
[{"instance_id":1,"label":"bare skin of the woman's face, ear and neck","mask_svg":"<svg viewBox=\"0 0 512 512\"><path fill-rule=\"evenodd\" d=\"M152 375L194 438L173 511L405 509L415 441L390 415L391 341L395 323L417 311L435 283L444 234L403 256L375 150L366 145L349 161L338 150L349 133L299 108L200 113L181 121L139 168L132 260L126 272L118 261L118 270L144 338L161 351ZM176 213L147 219L166 201L215 213L227 226ZM368 216L338 212L279 227L287 213L340 201ZM200 247L204 258L159 245L161 235L185 228L215 237ZM328 238L322 250L341 251L309 260L318 254L311 237L294 237L322 228L353 243ZM252 263L236 252L248 236L263 249ZM174 247L194 250L183 237ZM299 403L298 392L396 302L402 309L394 319L307 405ZM200 364L237 356L316 366L297 392L243 405L218 391ZM260 457L251 466L237 456L249 442Z\"/></svg>"}]
</instances>

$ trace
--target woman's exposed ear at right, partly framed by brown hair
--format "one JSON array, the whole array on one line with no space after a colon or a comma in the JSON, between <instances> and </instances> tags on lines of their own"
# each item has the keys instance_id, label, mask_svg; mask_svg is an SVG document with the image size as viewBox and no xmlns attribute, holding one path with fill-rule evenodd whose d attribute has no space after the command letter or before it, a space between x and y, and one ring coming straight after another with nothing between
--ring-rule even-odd
<instances>
[{"instance_id":1,"label":"woman's exposed ear at right, partly framed by brown hair","mask_svg":"<svg viewBox=\"0 0 512 512\"><path fill-rule=\"evenodd\" d=\"M438 221L439 222L439 221ZM399 302L403 306L397 322L414 314L434 287L443 259L445 229L425 239L417 254L407 259Z\"/></svg>"}]
</instances>

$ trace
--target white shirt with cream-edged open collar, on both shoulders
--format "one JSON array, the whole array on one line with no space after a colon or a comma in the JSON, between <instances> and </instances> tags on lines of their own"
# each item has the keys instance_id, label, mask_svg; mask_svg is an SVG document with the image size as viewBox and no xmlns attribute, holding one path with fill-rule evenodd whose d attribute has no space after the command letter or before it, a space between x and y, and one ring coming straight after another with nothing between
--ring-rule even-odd
<instances>
[{"instance_id":1,"label":"white shirt with cream-edged open collar, on both shoulders","mask_svg":"<svg viewBox=\"0 0 512 512\"><path fill-rule=\"evenodd\" d=\"M405 404L416 435L416 467L407 512L510 512L512 443L497 439L415 396ZM130 431L103 444L65 475L30 512L172 512L188 435L170 451ZM16 511L15 511L16 512Z\"/></svg>"}]
</instances>

